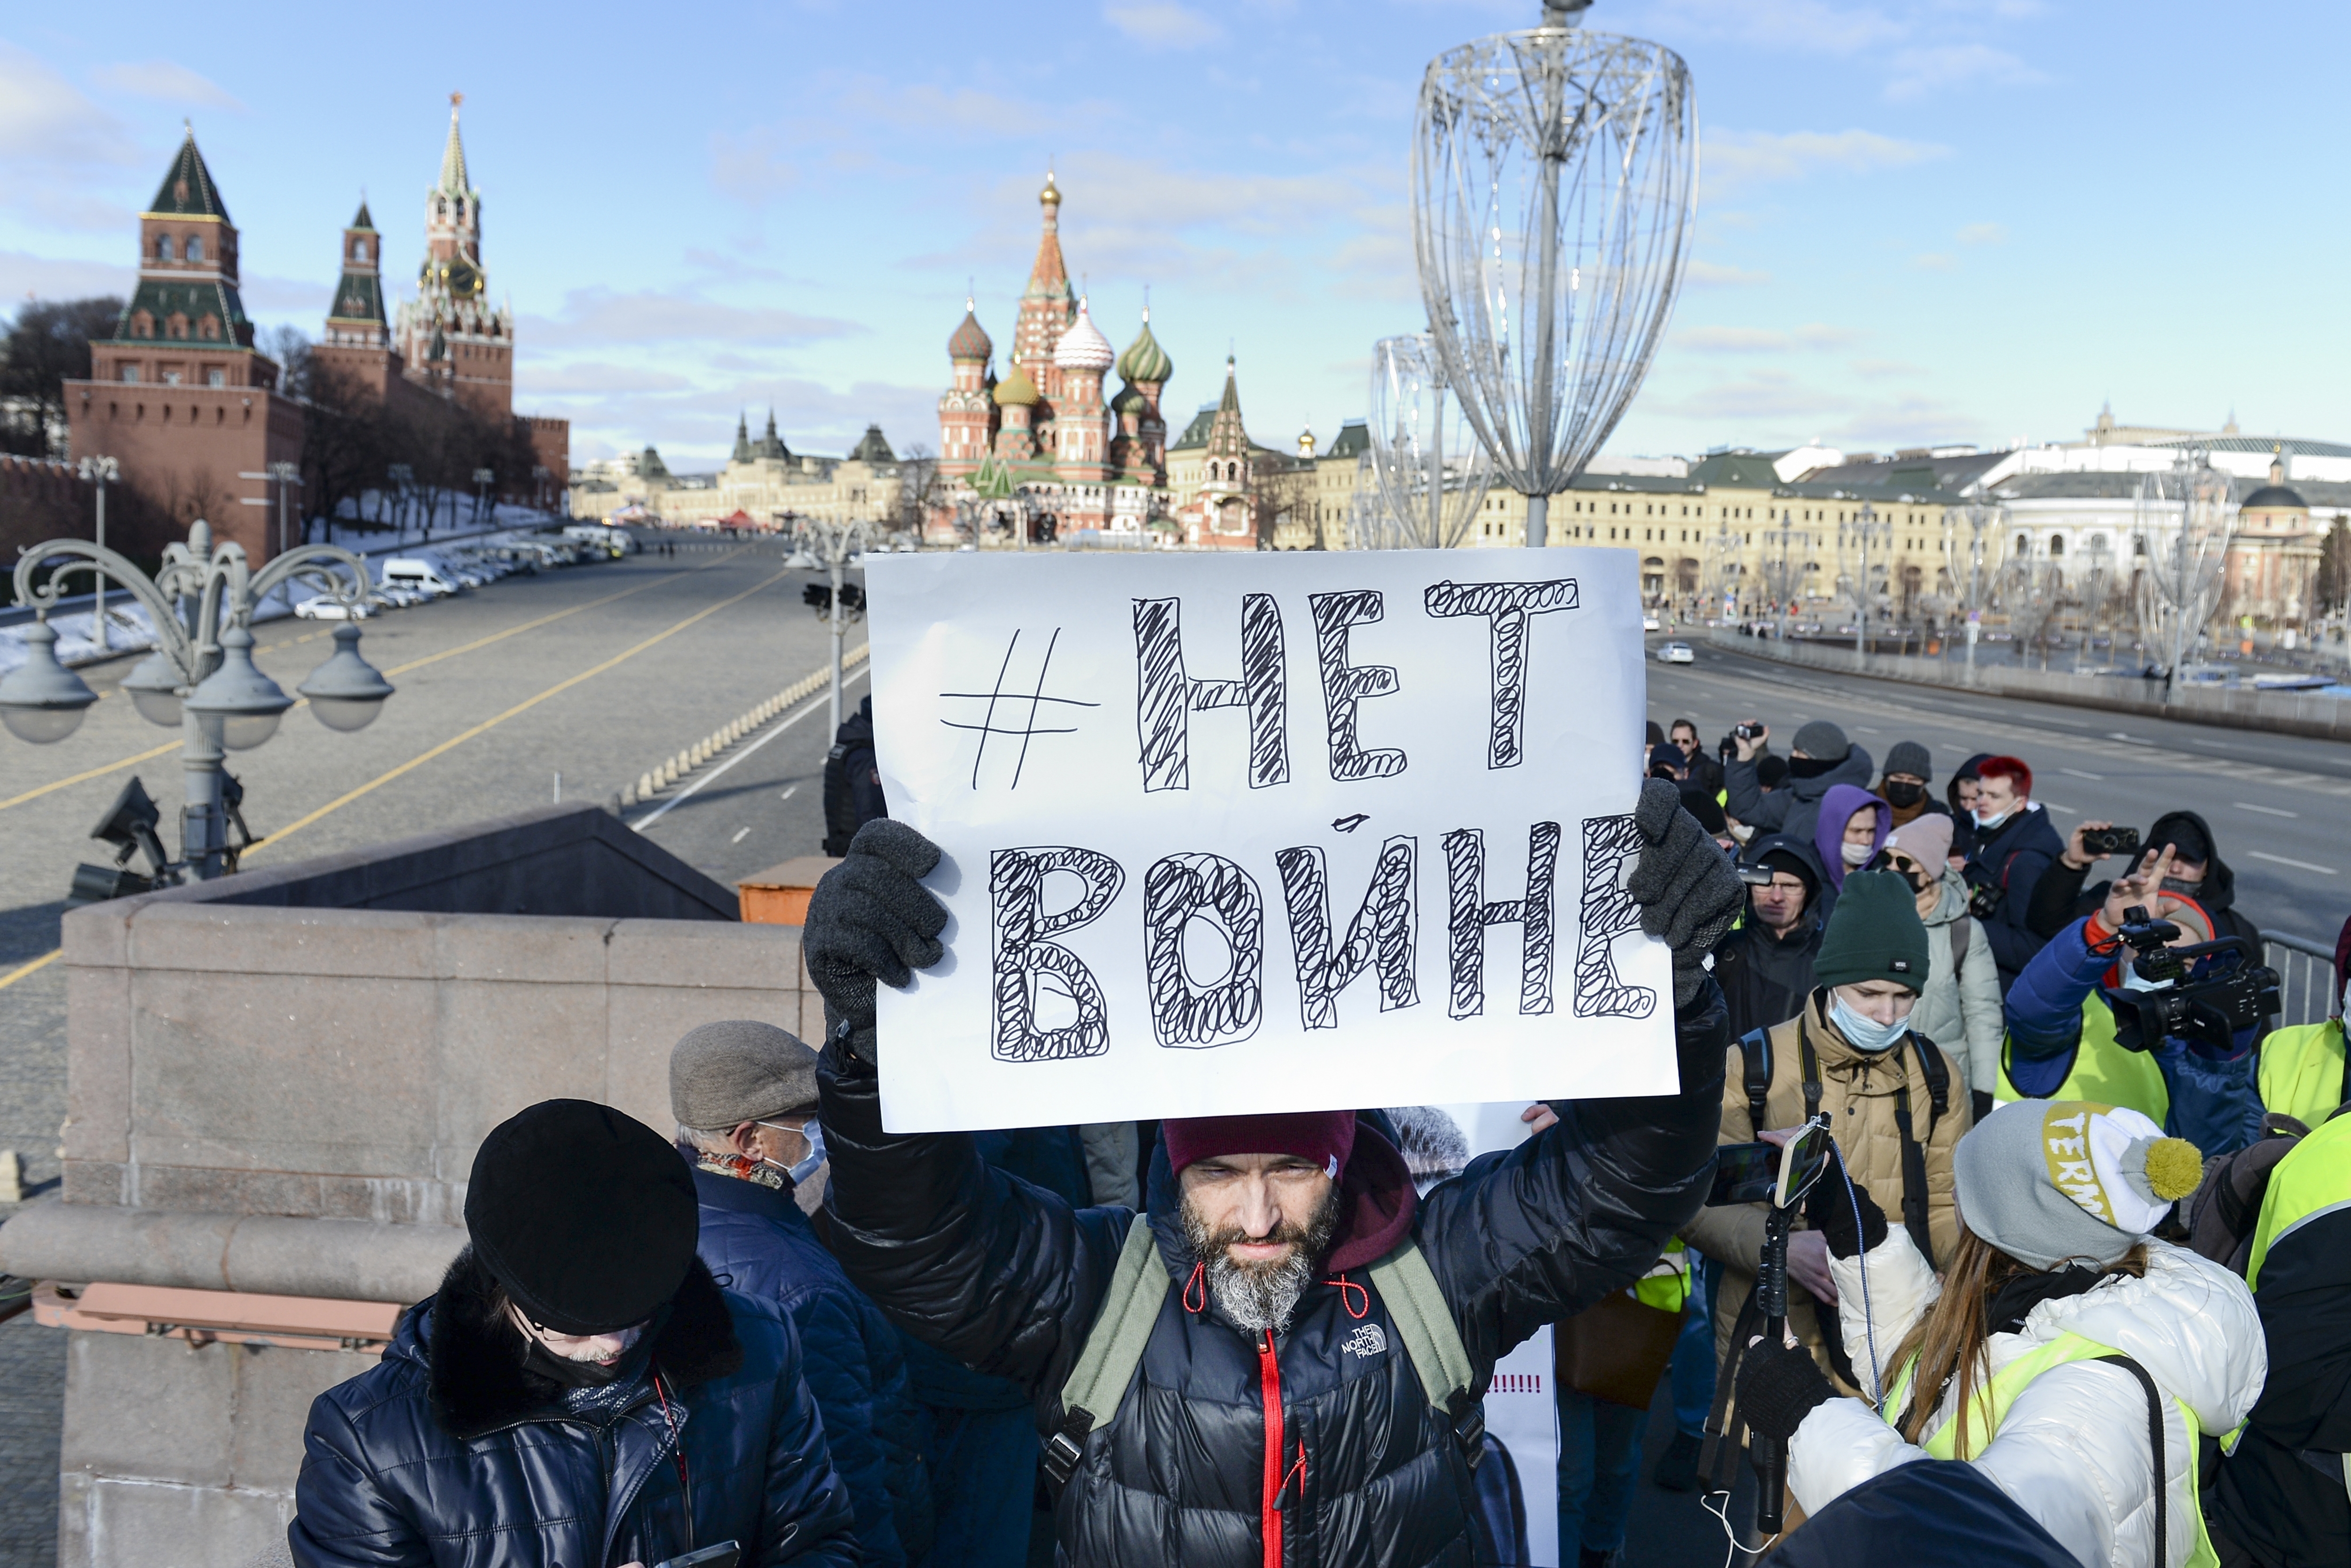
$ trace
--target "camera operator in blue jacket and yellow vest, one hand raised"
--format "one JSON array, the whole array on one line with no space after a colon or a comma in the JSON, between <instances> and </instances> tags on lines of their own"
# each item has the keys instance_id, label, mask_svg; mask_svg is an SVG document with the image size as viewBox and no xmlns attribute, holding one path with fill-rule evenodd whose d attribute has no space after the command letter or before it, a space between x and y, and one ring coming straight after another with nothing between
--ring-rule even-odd
<instances>
[{"instance_id":1,"label":"camera operator in blue jacket and yellow vest, one hand raised","mask_svg":"<svg viewBox=\"0 0 2351 1568\"><path fill-rule=\"evenodd\" d=\"M2259 1018L2231 1027L2226 1039L2212 1039L2210 1030L2168 1032L2144 1051L2125 1046L2116 1027L2130 992L2193 990L2231 973L2222 954L2196 959L2175 980L2139 973L2144 954L2123 940L2135 907L2177 926L2163 947L2212 940L2212 917L2186 893L2165 891L2172 860L2170 846L2144 851L2095 914L2052 936L2024 966L2008 990L2008 1051L1996 1093L2128 1105L2212 1159L2262 1135L2252 1051Z\"/></svg>"}]
</instances>

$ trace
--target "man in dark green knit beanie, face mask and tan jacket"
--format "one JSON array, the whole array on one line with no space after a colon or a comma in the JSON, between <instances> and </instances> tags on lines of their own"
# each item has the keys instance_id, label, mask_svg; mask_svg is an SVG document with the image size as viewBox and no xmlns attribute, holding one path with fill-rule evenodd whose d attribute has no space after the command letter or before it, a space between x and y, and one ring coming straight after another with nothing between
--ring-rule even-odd
<instances>
[{"instance_id":1,"label":"man in dark green knit beanie, face mask and tan jacket","mask_svg":"<svg viewBox=\"0 0 2351 1568\"><path fill-rule=\"evenodd\" d=\"M1820 985L1796 1016L1751 1032L1726 1058L1719 1138L1751 1143L1763 1131L1827 1114L1853 1180L1893 1194L1897 1222L1914 1232L1921 1255L1949 1260L1958 1244L1951 1150L1972 1114L1965 1081L1935 1041L1911 1030L1933 959L1907 882L1888 872L1846 877L1813 964ZM1721 1265L1714 1331L1723 1382L1735 1378L1733 1347L1747 1345L1761 1324L1749 1300L1763 1220L1763 1204L1719 1206L1700 1211L1683 1229ZM1817 1229L1789 1237L1787 1274L1789 1331L1841 1387L1855 1387L1836 1321L1829 1248Z\"/></svg>"}]
</instances>

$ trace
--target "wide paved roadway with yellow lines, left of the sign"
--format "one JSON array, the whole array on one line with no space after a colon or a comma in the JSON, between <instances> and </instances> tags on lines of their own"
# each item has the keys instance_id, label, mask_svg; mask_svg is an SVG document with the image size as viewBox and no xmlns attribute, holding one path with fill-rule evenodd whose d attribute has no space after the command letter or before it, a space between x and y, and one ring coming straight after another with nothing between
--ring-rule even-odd
<instances>
[{"instance_id":1,"label":"wide paved roadway with yellow lines, left of the sign","mask_svg":"<svg viewBox=\"0 0 2351 1568\"><path fill-rule=\"evenodd\" d=\"M397 686L369 729L343 736L294 710L268 745L230 755L263 839L247 865L538 806L557 776L562 799L618 799L828 661L825 625L799 602L813 578L785 571L773 543L696 541L675 557L515 576L367 621L360 651ZM292 691L329 637L327 625L275 621L256 630L256 663ZM162 804L165 844L179 842L176 731L146 724L115 691L132 663L82 672L103 696L68 741L0 736L0 1147L19 1152L35 1194L56 1178L66 1117L66 971L26 966L56 950L75 863L108 856L87 832L127 778ZM860 670L846 696L863 696ZM686 783L708 783L644 832L726 884L816 853L830 743L818 696L698 769ZM682 790L628 816L642 823ZM61 1394L63 1335L31 1316L0 1326L5 1563L54 1561Z\"/></svg>"}]
</instances>

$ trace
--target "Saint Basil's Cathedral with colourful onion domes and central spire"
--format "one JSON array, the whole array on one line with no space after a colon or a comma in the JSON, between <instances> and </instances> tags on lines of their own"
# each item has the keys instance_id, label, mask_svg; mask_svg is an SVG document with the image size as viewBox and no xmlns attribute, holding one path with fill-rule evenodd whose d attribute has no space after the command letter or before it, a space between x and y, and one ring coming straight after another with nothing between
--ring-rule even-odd
<instances>
[{"instance_id":1,"label":"Saint Basil's Cathedral with colourful onion domes and central spire","mask_svg":"<svg viewBox=\"0 0 2351 1568\"><path fill-rule=\"evenodd\" d=\"M1171 515L1159 395L1176 364L1152 336L1147 306L1126 353L1114 353L1093 324L1060 254L1060 200L1046 174L1037 261L1002 381L994 341L976 303L964 301L964 320L947 339L952 386L938 400L938 473L966 508L992 503L1009 515L1018 496L1051 515L1056 534L1140 538ZM1112 369L1126 386L1105 397Z\"/></svg>"}]
</instances>

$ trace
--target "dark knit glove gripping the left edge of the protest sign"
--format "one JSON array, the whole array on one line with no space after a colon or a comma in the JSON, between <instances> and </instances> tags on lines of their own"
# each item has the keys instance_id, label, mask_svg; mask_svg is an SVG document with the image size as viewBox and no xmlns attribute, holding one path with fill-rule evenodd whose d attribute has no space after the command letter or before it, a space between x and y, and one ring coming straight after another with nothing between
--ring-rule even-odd
<instances>
[{"instance_id":1,"label":"dark knit glove gripping the left edge of the protest sign","mask_svg":"<svg viewBox=\"0 0 2351 1568\"><path fill-rule=\"evenodd\" d=\"M842 858L809 898L802 952L825 997L828 1032L858 1058L875 1060L875 980L907 985L945 947L947 910L922 886L938 865L938 844L905 823L877 818L858 827ZM846 1027L846 1034L844 1034Z\"/></svg>"}]
</instances>

